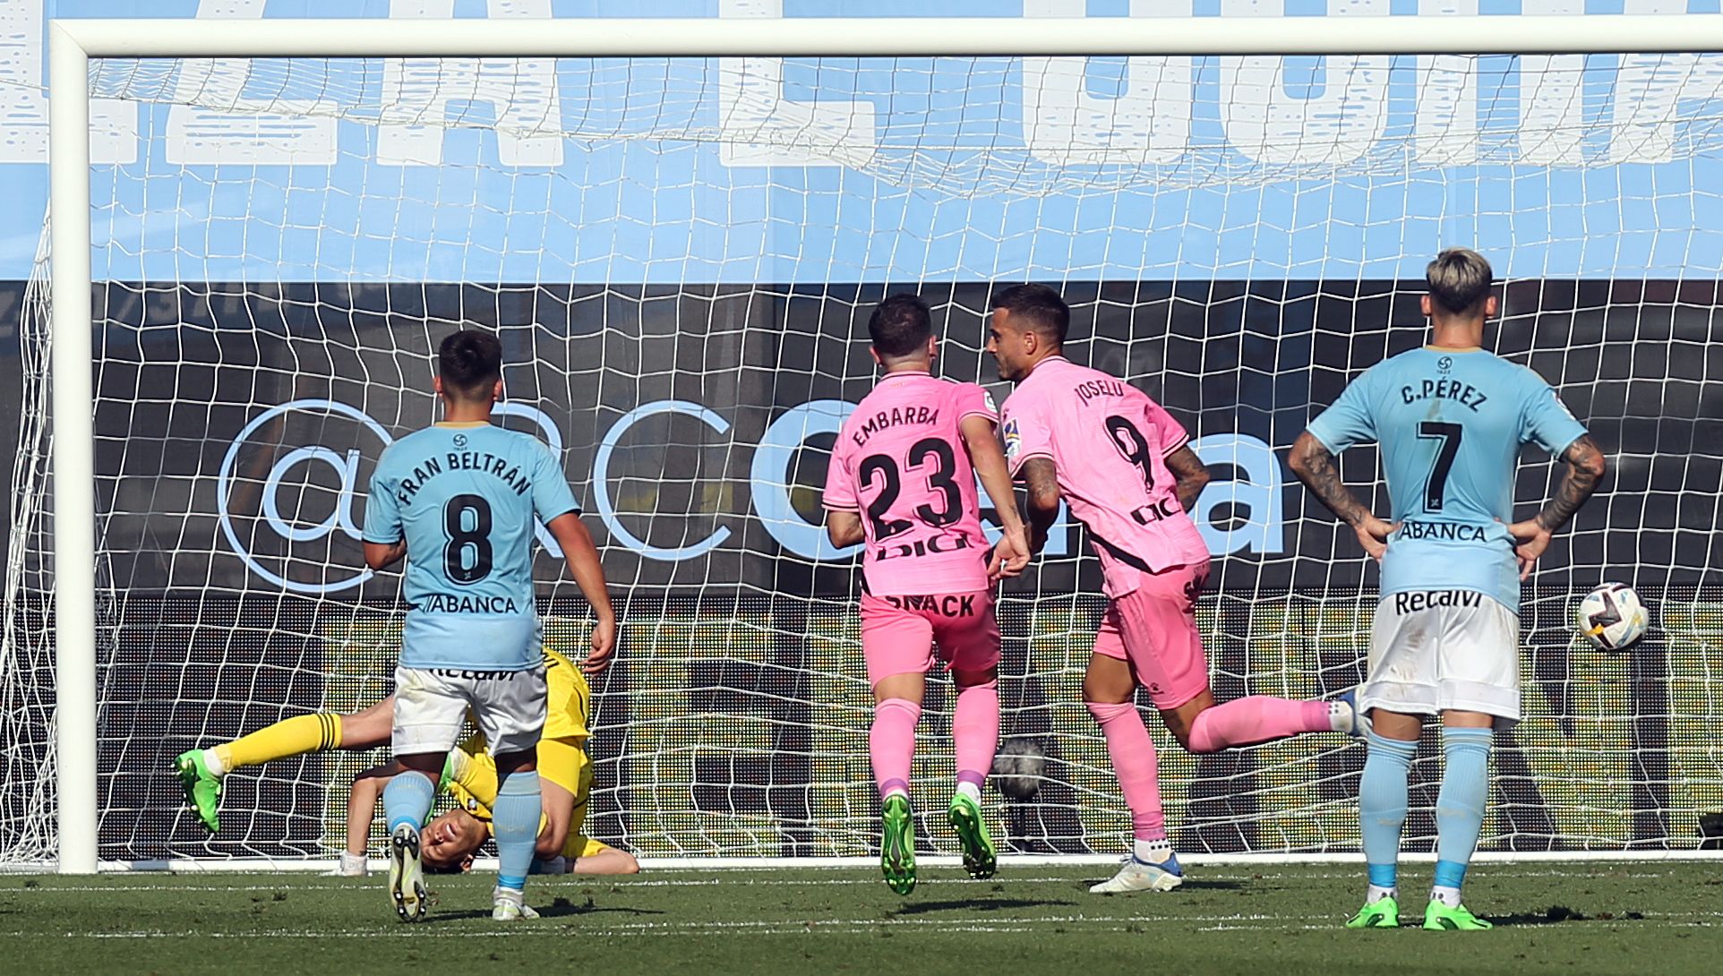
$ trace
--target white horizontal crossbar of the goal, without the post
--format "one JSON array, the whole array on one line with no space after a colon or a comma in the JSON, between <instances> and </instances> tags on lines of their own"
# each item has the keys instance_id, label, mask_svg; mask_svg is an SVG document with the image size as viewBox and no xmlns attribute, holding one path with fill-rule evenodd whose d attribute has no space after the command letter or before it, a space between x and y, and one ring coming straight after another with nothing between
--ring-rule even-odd
<instances>
[{"instance_id":1,"label":"white horizontal crossbar of the goal, without the post","mask_svg":"<svg viewBox=\"0 0 1723 976\"><path fill-rule=\"evenodd\" d=\"M1676 26L1676 21L1680 26ZM1060 57L1671 53L1723 14L1502 17L791 17L55 21L90 57Z\"/></svg>"}]
</instances>

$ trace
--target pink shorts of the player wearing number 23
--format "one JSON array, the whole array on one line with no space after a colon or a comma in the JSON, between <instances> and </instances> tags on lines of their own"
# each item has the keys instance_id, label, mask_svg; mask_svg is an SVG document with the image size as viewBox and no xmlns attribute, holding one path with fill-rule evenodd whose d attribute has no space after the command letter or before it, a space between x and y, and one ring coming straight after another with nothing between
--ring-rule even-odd
<instances>
[{"instance_id":1,"label":"pink shorts of the player wearing number 23","mask_svg":"<svg viewBox=\"0 0 1723 976\"><path fill-rule=\"evenodd\" d=\"M910 671L925 675L934 661L958 671L996 668L999 623L992 618L992 594L862 594L862 654L870 685Z\"/></svg>"}]
</instances>

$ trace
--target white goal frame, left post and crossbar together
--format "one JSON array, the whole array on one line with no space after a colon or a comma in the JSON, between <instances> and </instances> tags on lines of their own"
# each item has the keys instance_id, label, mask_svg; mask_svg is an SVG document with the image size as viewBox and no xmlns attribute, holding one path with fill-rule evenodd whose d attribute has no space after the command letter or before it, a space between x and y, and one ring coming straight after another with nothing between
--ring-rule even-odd
<instances>
[{"instance_id":1,"label":"white goal frame, left post and crossbar together","mask_svg":"<svg viewBox=\"0 0 1723 976\"><path fill-rule=\"evenodd\" d=\"M91 59L1080 57L1723 52L1723 15L179 21L50 26L57 859L98 868Z\"/></svg>"}]
</instances>

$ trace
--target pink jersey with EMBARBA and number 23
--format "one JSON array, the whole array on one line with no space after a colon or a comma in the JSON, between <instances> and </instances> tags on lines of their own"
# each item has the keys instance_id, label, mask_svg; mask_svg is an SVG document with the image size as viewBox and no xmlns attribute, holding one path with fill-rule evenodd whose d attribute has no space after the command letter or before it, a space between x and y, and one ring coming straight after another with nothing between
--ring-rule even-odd
<instances>
[{"instance_id":1,"label":"pink jersey with EMBARBA and number 23","mask_svg":"<svg viewBox=\"0 0 1723 976\"><path fill-rule=\"evenodd\" d=\"M965 417L999 422L972 382L891 374L837 432L825 508L862 515L862 577L874 596L987 589Z\"/></svg>"}]
</instances>

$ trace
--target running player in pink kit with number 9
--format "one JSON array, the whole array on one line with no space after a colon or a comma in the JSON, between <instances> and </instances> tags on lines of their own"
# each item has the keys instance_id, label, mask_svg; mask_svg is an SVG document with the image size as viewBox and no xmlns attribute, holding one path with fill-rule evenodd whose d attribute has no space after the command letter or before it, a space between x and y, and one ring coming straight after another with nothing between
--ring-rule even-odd
<instances>
[{"instance_id":1,"label":"running player in pink kit with number 9","mask_svg":"<svg viewBox=\"0 0 1723 976\"><path fill-rule=\"evenodd\" d=\"M1084 675L1084 704L1106 735L1135 843L1096 893L1182 883L1166 840L1154 744L1137 714L1137 687L1168 732L1192 752L1268 742L1304 732L1353 732L1351 699L1332 702L1251 695L1216 704L1196 627L1208 580L1208 546L1187 510L1208 484L1189 435L1161 405L1063 355L1070 308L1041 284L992 300L987 351L1017 382L1005 401L1005 451L1029 484L1030 544L1046 542L1060 499L1089 530L1111 597Z\"/></svg>"}]
</instances>

